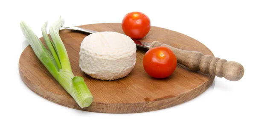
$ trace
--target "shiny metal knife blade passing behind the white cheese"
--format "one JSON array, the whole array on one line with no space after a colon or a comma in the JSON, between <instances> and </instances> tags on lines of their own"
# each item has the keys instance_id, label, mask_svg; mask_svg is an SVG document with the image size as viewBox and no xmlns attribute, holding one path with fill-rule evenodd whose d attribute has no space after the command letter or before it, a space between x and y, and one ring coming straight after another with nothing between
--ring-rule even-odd
<instances>
[{"instance_id":1,"label":"shiny metal knife blade passing behind the white cheese","mask_svg":"<svg viewBox=\"0 0 256 128\"><path fill-rule=\"evenodd\" d=\"M65 29L86 32L88 34L93 34L93 33L97 32L97 31L93 31L93 30L90 30L90 29L83 29L83 28L79 28L79 27L65 27L65 26L62 26L62 27L65 28ZM138 40L135 40L135 39L132 39L132 40L134 41L136 46L143 47L143 48L146 48L146 49L149 49L150 44L151 44L151 43L148 43L148 42L142 42L142 41L138 41Z\"/></svg>"}]
</instances>

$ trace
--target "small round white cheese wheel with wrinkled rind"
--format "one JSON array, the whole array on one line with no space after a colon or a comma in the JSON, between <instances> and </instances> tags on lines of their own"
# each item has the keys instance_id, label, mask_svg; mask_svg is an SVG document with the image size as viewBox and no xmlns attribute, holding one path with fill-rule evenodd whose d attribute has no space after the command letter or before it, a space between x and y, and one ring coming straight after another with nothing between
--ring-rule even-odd
<instances>
[{"instance_id":1,"label":"small round white cheese wheel with wrinkled rind","mask_svg":"<svg viewBox=\"0 0 256 128\"><path fill-rule=\"evenodd\" d=\"M87 75L101 80L127 76L136 63L136 44L118 32L96 32L81 43L79 67Z\"/></svg>"}]
</instances>

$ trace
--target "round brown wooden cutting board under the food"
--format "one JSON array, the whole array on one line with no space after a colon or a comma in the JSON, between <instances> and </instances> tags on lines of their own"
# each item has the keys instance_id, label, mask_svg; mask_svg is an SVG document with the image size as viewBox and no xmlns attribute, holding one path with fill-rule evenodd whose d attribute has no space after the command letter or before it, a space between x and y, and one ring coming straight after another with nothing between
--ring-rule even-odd
<instances>
[{"instance_id":1,"label":"round brown wooden cutting board under the food","mask_svg":"<svg viewBox=\"0 0 256 128\"><path fill-rule=\"evenodd\" d=\"M99 23L79 26L99 32L114 31L123 33L121 23ZM169 108L189 101L203 93L215 76L191 71L178 64L175 72L166 79L154 79L143 69L143 56L147 49L137 47L137 63L128 76L102 81L87 76L79 68L79 48L87 33L62 29L59 32L67 49L75 76L84 77L94 101L87 108L80 108L75 100L51 76L30 45L20 55L19 71L24 83L39 96L69 108L99 113L140 113ZM44 39L40 38L44 43ZM199 51L212 55L212 52L193 38L181 33L152 26L148 35L141 41L160 41L184 50Z\"/></svg>"}]
</instances>

